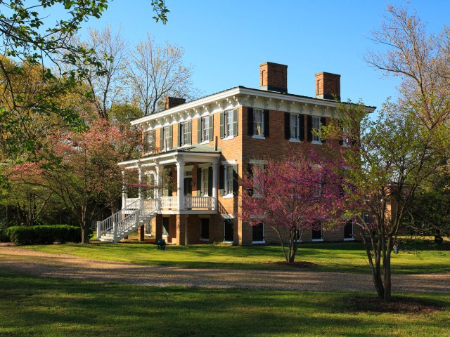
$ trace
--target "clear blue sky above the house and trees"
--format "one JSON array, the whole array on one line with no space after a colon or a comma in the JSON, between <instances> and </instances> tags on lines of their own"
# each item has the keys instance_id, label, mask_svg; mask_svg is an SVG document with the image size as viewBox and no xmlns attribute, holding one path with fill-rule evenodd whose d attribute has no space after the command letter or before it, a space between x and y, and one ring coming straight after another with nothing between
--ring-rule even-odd
<instances>
[{"instance_id":1,"label":"clear blue sky above the house and trees","mask_svg":"<svg viewBox=\"0 0 450 337\"><path fill-rule=\"evenodd\" d=\"M404 1L391 1L399 5ZM314 96L314 74L341 74L342 100L366 105L394 97L397 81L382 78L362 60L380 27L385 1L175 1L167 25L154 22L149 0L116 0L100 20L84 27L122 27L131 44L150 33L162 44L183 46L193 81L205 95L242 85L259 88L259 63L288 65L288 91ZM430 32L449 24L450 1L411 1Z\"/></svg>"}]
</instances>

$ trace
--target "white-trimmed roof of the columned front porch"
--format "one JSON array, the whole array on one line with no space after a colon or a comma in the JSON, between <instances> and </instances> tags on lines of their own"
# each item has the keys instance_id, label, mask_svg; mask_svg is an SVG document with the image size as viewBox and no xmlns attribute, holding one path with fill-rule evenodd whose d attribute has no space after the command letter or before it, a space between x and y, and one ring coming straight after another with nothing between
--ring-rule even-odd
<instances>
[{"instance_id":1,"label":"white-trimmed roof of the columned front porch","mask_svg":"<svg viewBox=\"0 0 450 337\"><path fill-rule=\"evenodd\" d=\"M173 147L171 150L150 154L146 157L121 161L117 165L123 169L138 169L139 166L155 166L175 164L177 161L212 163L220 157L221 149L204 144L193 144L183 147Z\"/></svg>"}]
</instances>

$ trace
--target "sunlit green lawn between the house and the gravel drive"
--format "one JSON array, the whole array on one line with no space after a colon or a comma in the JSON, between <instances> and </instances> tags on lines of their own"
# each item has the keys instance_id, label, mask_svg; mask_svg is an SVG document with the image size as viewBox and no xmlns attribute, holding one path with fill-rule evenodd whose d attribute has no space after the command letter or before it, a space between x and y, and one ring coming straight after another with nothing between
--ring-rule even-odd
<instances>
[{"instance_id":1,"label":"sunlit green lawn between the house and the gravel drive","mask_svg":"<svg viewBox=\"0 0 450 337\"><path fill-rule=\"evenodd\" d=\"M444 246L445 247L445 246ZM23 246L48 253L65 253L86 258L113 260L144 265L167 265L188 268L274 269L284 266L271 263L283 261L279 246L167 246L158 251L153 244L53 244ZM450 251L430 244L404 246L392 256L393 272L428 273L450 271ZM359 243L302 244L297 260L316 263L318 271L369 272L366 252Z\"/></svg>"}]
</instances>

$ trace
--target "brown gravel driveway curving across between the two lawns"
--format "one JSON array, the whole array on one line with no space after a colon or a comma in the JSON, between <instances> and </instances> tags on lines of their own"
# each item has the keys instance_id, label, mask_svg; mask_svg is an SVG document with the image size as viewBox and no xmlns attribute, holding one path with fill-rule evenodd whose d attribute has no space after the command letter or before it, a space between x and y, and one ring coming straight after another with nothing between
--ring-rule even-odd
<instances>
[{"instance_id":1,"label":"brown gravel driveway curving across between the two lawns","mask_svg":"<svg viewBox=\"0 0 450 337\"><path fill-rule=\"evenodd\" d=\"M373 291L371 275L311 270L185 269L115 263L0 246L0 268L37 277L62 277L142 286ZM450 272L393 275L394 292L450 291Z\"/></svg>"}]
</instances>

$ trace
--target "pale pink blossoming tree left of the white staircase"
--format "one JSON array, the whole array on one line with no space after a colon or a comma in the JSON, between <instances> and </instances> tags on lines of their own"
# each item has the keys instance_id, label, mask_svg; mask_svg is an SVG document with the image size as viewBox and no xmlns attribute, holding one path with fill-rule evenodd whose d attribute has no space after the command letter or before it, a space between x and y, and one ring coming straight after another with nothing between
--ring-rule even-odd
<instances>
[{"instance_id":1,"label":"pale pink blossoming tree left of the white staircase","mask_svg":"<svg viewBox=\"0 0 450 337\"><path fill-rule=\"evenodd\" d=\"M27 164L23 183L57 195L82 227L82 242L88 243L89 227L98 207L110 205L121 192L122 173L117 162L127 159L139 141L136 131L104 119L90 121L84 132L54 136L52 150L59 161Z\"/></svg>"}]
</instances>

